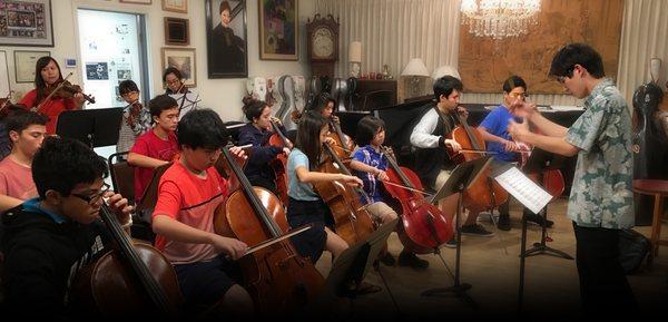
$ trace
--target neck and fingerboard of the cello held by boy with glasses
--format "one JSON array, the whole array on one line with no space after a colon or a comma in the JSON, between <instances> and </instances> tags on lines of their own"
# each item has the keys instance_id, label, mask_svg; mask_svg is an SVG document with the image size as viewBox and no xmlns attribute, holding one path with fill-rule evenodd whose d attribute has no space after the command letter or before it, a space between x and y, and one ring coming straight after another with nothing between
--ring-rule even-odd
<instances>
[{"instance_id":1,"label":"neck and fingerboard of the cello held by boy with glasses","mask_svg":"<svg viewBox=\"0 0 668 322\"><path fill-rule=\"evenodd\" d=\"M169 300L167 299L165 291L150 274L141 257L139 257L139 254L132 246L132 242L118 223L118 218L111 214L111 211L104 202L102 206L100 207L100 217L109 230L111 237L116 242L121 256L129 263L129 266L132 269L135 274L137 274L137 277L141 282L144 290L146 290L148 293L148 296L150 297L150 301L154 303L155 308L163 315L170 316L174 310L169 304Z\"/></svg>"}]
</instances>

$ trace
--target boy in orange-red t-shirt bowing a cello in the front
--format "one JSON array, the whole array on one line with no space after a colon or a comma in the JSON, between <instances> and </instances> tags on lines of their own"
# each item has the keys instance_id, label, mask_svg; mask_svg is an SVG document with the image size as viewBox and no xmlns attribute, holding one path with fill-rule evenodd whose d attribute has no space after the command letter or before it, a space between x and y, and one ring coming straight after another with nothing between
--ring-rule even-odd
<instances>
[{"instance_id":1,"label":"boy in orange-red t-shirt bowing a cello in the front","mask_svg":"<svg viewBox=\"0 0 668 322\"><path fill-rule=\"evenodd\" d=\"M227 144L225 126L210 109L191 110L178 124L178 142L180 158L158 185L156 247L174 265L187 311L206 308L210 318L249 318L253 301L228 275L230 261L248 246L214 232L214 212L228 196L227 180L213 167ZM243 156L239 148L230 152Z\"/></svg>"}]
</instances>

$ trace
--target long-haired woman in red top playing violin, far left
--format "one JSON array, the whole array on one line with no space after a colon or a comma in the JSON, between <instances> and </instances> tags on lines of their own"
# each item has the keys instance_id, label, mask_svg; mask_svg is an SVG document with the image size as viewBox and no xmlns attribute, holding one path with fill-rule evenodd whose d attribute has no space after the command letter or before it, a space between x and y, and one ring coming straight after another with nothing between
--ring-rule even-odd
<instances>
[{"instance_id":1,"label":"long-haired woman in red top playing violin, far left","mask_svg":"<svg viewBox=\"0 0 668 322\"><path fill-rule=\"evenodd\" d=\"M56 59L45 56L37 60L35 65L35 89L28 91L19 101L28 109L38 108L37 113L49 117L47 123L47 134L56 134L58 116L63 110L81 109L86 98L82 92L75 92L71 97L60 97L52 95L47 99L51 90L63 81L60 66Z\"/></svg>"}]
</instances>

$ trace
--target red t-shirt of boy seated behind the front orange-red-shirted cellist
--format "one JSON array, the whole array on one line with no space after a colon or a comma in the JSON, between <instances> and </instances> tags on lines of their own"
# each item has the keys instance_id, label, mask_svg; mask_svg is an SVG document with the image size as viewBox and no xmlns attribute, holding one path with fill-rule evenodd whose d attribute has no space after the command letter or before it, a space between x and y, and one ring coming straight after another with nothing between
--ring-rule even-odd
<instances>
[{"instance_id":1,"label":"red t-shirt of boy seated behind the front orange-red-shirted cellist","mask_svg":"<svg viewBox=\"0 0 668 322\"><path fill-rule=\"evenodd\" d=\"M171 162L174 156L178 153L178 140L174 133L170 133L167 136L167 140L164 140L159 138L154 130L149 130L137 138L130 152L156 159ZM141 201L144 191L150 183L153 175L153 168L135 167L135 201Z\"/></svg>"}]
</instances>

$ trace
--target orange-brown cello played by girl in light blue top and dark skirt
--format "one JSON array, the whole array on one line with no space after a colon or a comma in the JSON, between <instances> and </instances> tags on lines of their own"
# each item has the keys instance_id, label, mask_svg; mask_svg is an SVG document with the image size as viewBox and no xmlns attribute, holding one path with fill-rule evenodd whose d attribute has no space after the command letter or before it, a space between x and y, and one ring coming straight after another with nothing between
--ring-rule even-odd
<instances>
[{"instance_id":1,"label":"orange-brown cello played by girl in light blue top and dark skirt","mask_svg":"<svg viewBox=\"0 0 668 322\"><path fill-rule=\"evenodd\" d=\"M318 170L322 173L351 175L332 146L327 143L323 143L323 146L328 160L325 160ZM374 223L360 201L360 195L365 196L366 199L370 199L370 197L362 188L352 188L338 180L315 183L314 187L332 212L336 234L348 245L354 245L373 233L375 228Z\"/></svg>"}]
</instances>

